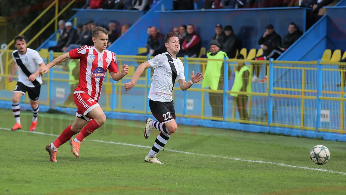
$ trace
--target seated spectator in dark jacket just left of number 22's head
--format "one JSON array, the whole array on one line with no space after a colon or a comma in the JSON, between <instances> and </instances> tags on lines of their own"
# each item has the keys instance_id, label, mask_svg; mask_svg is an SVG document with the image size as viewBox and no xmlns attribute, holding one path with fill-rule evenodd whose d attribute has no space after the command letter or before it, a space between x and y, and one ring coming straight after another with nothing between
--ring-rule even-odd
<instances>
[{"instance_id":1,"label":"seated spectator in dark jacket just left of number 22's head","mask_svg":"<svg viewBox=\"0 0 346 195\"><path fill-rule=\"evenodd\" d=\"M149 50L146 53L142 53L139 55L147 55L155 56L157 54L166 52L166 47L163 43L163 39L165 36L159 32L157 32L157 28L155 26L150 28L150 39L148 40Z\"/></svg>"}]
</instances>

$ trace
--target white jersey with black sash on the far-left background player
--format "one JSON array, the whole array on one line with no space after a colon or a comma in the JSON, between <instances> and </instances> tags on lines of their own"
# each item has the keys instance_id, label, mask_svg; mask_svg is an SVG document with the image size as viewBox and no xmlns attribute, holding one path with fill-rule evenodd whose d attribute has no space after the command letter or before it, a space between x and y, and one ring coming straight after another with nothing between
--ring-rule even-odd
<instances>
[{"instance_id":1,"label":"white jersey with black sash on the far-left background player","mask_svg":"<svg viewBox=\"0 0 346 195\"><path fill-rule=\"evenodd\" d=\"M13 61L18 65L18 81L27 87L35 87L42 84L41 77L36 77L34 81L29 81L31 74L34 74L40 63L43 62L42 57L37 51L26 48L25 54L19 54L18 50L12 53Z\"/></svg>"}]
</instances>

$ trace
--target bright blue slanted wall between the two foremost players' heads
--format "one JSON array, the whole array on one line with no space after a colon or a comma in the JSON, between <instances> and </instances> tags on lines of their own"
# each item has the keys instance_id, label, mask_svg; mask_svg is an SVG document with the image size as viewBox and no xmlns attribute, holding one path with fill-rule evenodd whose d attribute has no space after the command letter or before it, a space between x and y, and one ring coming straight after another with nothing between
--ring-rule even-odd
<instances>
[{"instance_id":1,"label":"bright blue slanted wall between the two foremost players' heads","mask_svg":"<svg viewBox=\"0 0 346 195\"><path fill-rule=\"evenodd\" d=\"M161 0L151 8L142 18L140 18L129 30L119 37L108 50L115 52L117 55L136 55L138 47L145 47L149 26L158 26L159 15L155 11L161 10L161 5L167 10L171 10L173 3L171 0Z\"/></svg>"}]
</instances>

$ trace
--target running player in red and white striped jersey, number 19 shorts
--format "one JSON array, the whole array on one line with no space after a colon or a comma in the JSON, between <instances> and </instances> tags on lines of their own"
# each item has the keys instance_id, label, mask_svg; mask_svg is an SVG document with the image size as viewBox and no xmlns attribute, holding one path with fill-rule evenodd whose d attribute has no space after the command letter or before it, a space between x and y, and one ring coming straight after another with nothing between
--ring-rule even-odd
<instances>
[{"instance_id":1,"label":"running player in red and white striped jersey, number 19 shorts","mask_svg":"<svg viewBox=\"0 0 346 195\"><path fill-rule=\"evenodd\" d=\"M98 104L98 100L107 70L115 81L119 81L128 73L128 65L125 64L119 72L115 54L106 50L108 43L108 31L106 29L94 28L92 41L94 46L82 46L71 50L39 70L40 76L43 76L43 73L46 74L56 64L68 59L81 60L79 83L74 91L74 103L78 110L72 125L66 127L53 143L46 145L46 151L49 153L51 162L57 162L57 149L71 140L72 136L77 133L79 134L70 141L70 145L73 155L79 157L79 149L83 139L106 122L106 115Z\"/></svg>"}]
</instances>

